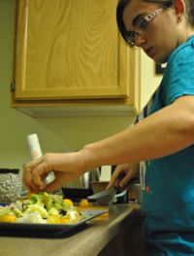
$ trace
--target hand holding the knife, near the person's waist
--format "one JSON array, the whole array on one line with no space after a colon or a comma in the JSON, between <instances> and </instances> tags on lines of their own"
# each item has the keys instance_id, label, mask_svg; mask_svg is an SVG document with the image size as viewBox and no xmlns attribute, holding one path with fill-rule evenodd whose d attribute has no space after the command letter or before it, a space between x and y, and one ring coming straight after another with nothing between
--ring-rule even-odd
<instances>
[{"instance_id":1,"label":"hand holding the knife, near the person's waist","mask_svg":"<svg viewBox=\"0 0 194 256\"><path fill-rule=\"evenodd\" d=\"M139 163L117 165L115 170L113 171L113 176L107 189L113 186L121 189L128 188L132 179L139 178L138 171Z\"/></svg>"}]
</instances>

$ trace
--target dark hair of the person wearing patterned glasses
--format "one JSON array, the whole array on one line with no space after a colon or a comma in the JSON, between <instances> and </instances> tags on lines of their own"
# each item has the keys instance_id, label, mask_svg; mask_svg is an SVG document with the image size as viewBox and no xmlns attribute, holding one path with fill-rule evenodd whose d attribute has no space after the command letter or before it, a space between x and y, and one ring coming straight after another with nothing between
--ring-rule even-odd
<instances>
[{"instance_id":1,"label":"dark hair of the person wearing patterned glasses","mask_svg":"<svg viewBox=\"0 0 194 256\"><path fill-rule=\"evenodd\" d=\"M173 0L142 0L147 3L155 3L159 4L163 7L170 7L173 5ZM122 15L123 11L126 7L126 5L130 2L130 0L119 0L116 8L116 21L117 26L120 31L121 36L123 39L127 42L126 39L126 29L125 25L123 23ZM187 14L187 20L188 23L194 27L194 1L193 0L184 0L185 6L186 6L186 14ZM127 42L128 43L128 42Z\"/></svg>"}]
</instances>

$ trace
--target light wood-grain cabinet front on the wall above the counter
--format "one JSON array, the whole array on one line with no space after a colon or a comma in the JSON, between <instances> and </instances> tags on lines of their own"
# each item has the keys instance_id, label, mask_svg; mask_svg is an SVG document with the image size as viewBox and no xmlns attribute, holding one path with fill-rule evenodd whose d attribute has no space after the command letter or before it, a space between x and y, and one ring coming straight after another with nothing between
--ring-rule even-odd
<instances>
[{"instance_id":1,"label":"light wood-grain cabinet front on the wall above the counter","mask_svg":"<svg viewBox=\"0 0 194 256\"><path fill-rule=\"evenodd\" d=\"M130 96L117 0L18 0L16 99Z\"/></svg>"}]
</instances>

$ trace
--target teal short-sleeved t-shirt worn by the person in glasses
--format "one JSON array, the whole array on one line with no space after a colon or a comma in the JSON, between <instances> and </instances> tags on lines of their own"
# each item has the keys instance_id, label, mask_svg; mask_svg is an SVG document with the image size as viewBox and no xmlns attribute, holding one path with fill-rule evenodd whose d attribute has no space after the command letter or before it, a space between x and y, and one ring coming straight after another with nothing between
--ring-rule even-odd
<instances>
[{"instance_id":1,"label":"teal short-sleeved t-shirt worn by the person in glasses","mask_svg":"<svg viewBox=\"0 0 194 256\"><path fill-rule=\"evenodd\" d=\"M148 115L182 95L194 95L194 35L170 55ZM194 145L147 161L145 182L142 209L149 231L194 232Z\"/></svg>"}]
</instances>

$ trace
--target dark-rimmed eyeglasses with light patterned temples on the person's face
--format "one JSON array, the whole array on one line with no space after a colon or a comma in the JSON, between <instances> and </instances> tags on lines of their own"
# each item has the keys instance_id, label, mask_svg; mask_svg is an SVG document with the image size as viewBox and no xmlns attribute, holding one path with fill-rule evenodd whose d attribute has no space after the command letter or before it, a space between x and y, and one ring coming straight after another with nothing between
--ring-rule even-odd
<instances>
[{"instance_id":1,"label":"dark-rimmed eyeglasses with light patterned temples on the person's face","mask_svg":"<svg viewBox=\"0 0 194 256\"><path fill-rule=\"evenodd\" d=\"M150 13L142 18L139 18L135 24L134 31L126 31L125 41L131 47L136 46L136 36L143 34L146 31L146 26L147 26L148 22L150 22L153 18L155 18L159 13L164 11L166 8L161 7L159 9L157 9L155 12Z\"/></svg>"}]
</instances>

